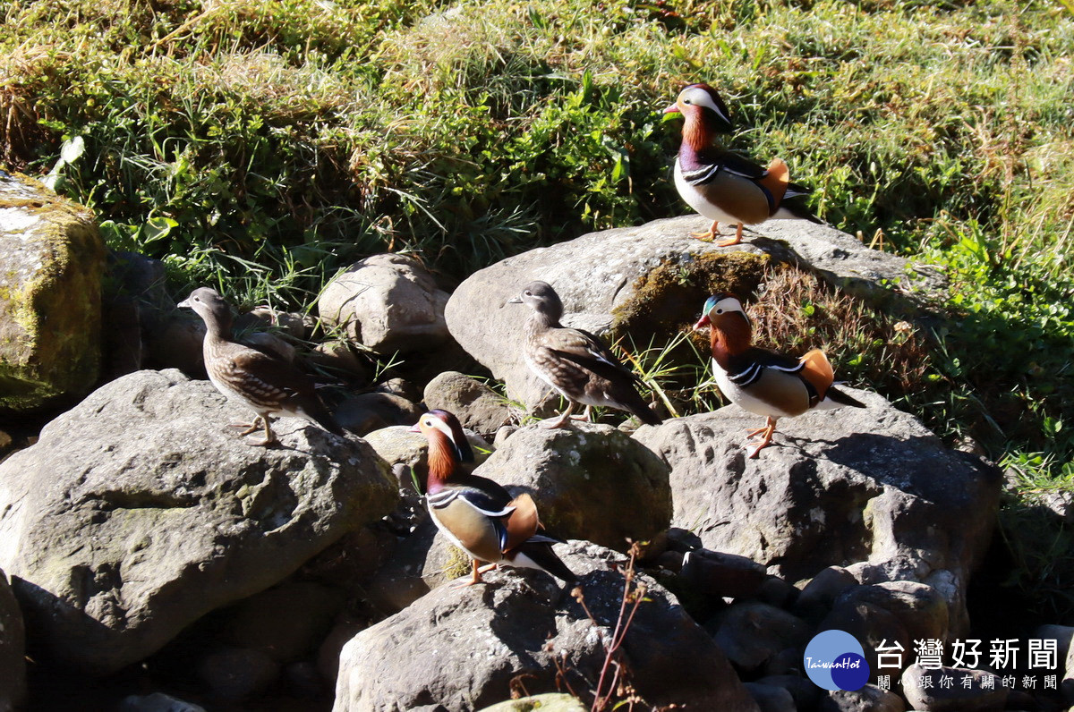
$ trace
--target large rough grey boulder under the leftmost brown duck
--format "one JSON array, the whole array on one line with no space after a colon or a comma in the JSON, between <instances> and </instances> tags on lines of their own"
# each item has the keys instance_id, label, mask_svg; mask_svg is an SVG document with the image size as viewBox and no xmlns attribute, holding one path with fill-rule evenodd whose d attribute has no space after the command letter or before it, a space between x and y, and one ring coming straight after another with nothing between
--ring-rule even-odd
<instances>
[{"instance_id":1,"label":"large rough grey boulder under the leftmost brown duck","mask_svg":"<svg viewBox=\"0 0 1074 712\"><path fill-rule=\"evenodd\" d=\"M107 673L282 580L391 511L363 440L301 419L247 445L250 413L178 370L115 380L0 465L0 567L38 655Z\"/></svg>"}]
</instances>

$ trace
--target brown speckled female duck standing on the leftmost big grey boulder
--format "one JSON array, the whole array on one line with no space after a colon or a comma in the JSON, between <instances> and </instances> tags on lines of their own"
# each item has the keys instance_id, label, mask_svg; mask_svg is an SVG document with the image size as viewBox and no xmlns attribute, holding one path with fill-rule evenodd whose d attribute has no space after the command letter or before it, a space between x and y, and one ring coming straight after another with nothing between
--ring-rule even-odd
<instances>
[{"instance_id":1,"label":"brown speckled female duck standing on the leftmost big grey boulder","mask_svg":"<svg viewBox=\"0 0 1074 712\"><path fill-rule=\"evenodd\" d=\"M276 442L270 425L274 415L305 418L330 433L344 434L308 376L286 361L232 340L231 308L215 289L195 289L178 306L193 309L205 322L202 354L209 380L257 416L252 423L234 423L232 427L245 427L241 435L249 435L264 426L264 440L251 445Z\"/></svg>"}]
</instances>

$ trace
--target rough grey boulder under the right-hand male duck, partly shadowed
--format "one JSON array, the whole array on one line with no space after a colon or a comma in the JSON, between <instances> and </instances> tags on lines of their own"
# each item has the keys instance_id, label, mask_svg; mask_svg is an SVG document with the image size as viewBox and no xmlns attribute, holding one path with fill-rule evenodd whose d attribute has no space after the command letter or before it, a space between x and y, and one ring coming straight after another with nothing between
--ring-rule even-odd
<instances>
[{"instance_id":1,"label":"rough grey boulder under the right-hand male duck, partly shadowed","mask_svg":"<svg viewBox=\"0 0 1074 712\"><path fill-rule=\"evenodd\" d=\"M1000 473L947 450L880 395L847 390L868 408L781 420L756 460L745 431L763 422L737 406L634 438L670 465L672 524L706 548L792 581L838 565L862 583L928 582L964 633L966 584L991 540Z\"/></svg>"}]
</instances>

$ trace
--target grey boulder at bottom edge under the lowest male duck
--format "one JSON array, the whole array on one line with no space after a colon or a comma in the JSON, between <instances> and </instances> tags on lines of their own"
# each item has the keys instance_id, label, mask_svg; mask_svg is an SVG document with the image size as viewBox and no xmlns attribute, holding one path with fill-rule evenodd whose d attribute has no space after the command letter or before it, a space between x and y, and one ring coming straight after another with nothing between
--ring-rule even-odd
<instances>
[{"instance_id":1,"label":"grey boulder at bottom edge under the lowest male duck","mask_svg":"<svg viewBox=\"0 0 1074 712\"><path fill-rule=\"evenodd\" d=\"M599 677L601 641L623 594L623 576L609 561L622 565L623 557L580 541L556 549L579 573L598 628L539 571L500 570L489 575L488 585L440 586L344 646L334 710L480 709L506 699L519 674L527 675L529 693L551 692L553 655L562 656L569 682L587 688L592 683L580 675ZM645 600L621 651L638 693L653 704L756 712L727 660L674 597L644 575L636 580L647 586Z\"/></svg>"}]
</instances>

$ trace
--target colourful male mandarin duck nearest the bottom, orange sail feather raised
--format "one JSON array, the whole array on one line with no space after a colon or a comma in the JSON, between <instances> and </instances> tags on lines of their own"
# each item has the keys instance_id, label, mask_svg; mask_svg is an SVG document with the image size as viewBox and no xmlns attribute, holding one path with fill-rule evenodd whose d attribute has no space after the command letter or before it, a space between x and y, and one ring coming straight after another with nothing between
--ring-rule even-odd
<instances>
[{"instance_id":1,"label":"colourful male mandarin duck nearest the bottom, orange sail feather raised","mask_svg":"<svg viewBox=\"0 0 1074 712\"><path fill-rule=\"evenodd\" d=\"M536 568L566 582L578 577L552 551L562 539L538 534L543 528L528 494L511 498L490 479L466 475L460 462L474 460L459 419L447 410L431 410L411 431L429 440L425 503L436 527L474 560L474 576L463 585L481 583L481 573L498 564ZM478 562L490 566L478 567Z\"/></svg>"}]
</instances>

